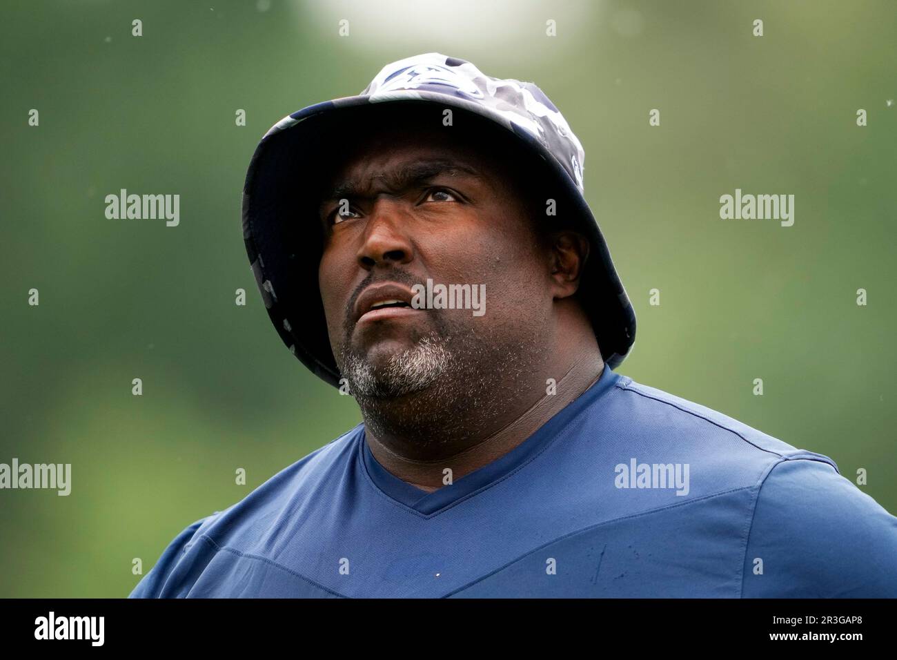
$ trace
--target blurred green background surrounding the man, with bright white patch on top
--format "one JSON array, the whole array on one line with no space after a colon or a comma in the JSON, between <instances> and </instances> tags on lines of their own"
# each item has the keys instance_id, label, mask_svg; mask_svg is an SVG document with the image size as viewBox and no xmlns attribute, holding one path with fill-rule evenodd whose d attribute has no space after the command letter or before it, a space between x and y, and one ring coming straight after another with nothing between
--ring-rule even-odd
<instances>
[{"instance_id":1,"label":"blurred green background surrounding the man, with bright white patch on top","mask_svg":"<svg viewBox=\"0 0 897 660\"><path fill-rule=\"evenodd\" d=\"M897 4L7 0L0 13L0 462L73 472L68 497L0 491L0 596L125 596L133 558L145 574L187 524L361 421L275 334L241 187L275 121L429 51L536 82L579 135L639 320L618 372L827 454L851 480L866 468L861 488L897 513ZM179 226L107 219L121 188L179 194ZM794 226L720 220L736 188L794 194Z\"/></svg>"}]
</instances>

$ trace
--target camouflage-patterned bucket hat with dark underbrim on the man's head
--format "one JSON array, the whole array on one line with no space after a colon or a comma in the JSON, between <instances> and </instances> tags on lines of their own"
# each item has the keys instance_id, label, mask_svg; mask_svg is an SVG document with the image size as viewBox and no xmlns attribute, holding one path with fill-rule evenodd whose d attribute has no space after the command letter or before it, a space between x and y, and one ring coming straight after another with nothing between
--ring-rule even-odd
<instances>
[{"instance_id":1,"label":"camouflage-patterned bucket hat with dark underbrim on the man's head","mask_svg":"<svg viewBox=\"0 0 897 660\"><path fill-rule=\"evenodd\" d=\"M534 163L546 168L559 191L556 219L563 218L591 244L578 298L607 365L623 362L635 340L635 312L583 196L585 153L579 139L535 84L492 78L470 62L439 53L384 66L358 96L293 112L268 130L252 156L243 189L243 239L268 315L293 355L327 383L339 385L318 287L322 236L318 189L311 182L324 154L351 146L347 126L357 130L366 126L372 109L396 105L435 110L440 118L444 109L480 118L514 136Z\"/></svg>"}]
</instances>

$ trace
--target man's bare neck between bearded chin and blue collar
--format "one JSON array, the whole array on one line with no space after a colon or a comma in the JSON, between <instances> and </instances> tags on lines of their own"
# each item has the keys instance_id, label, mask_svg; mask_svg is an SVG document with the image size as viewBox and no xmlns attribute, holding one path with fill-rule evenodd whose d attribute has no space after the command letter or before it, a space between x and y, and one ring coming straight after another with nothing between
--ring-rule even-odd
<instances>
[{"instance_id":1,"label":"man's bare neck between bearded chin and blue collar","mask_svg":"<svg viewBox=\"0 0 897 660\"><path fill-rule=\"evenodd\" d=\"M458 480L501 458L602 374L604 362L590 326L553 346L543 364L530 363L501 385L488 383L461 398L460 405L445 405L452 397L438 393L386 404L360 400L370 452L387 471L426 491L445 485L447 468Z\"/></svg>"}]
</instances>

